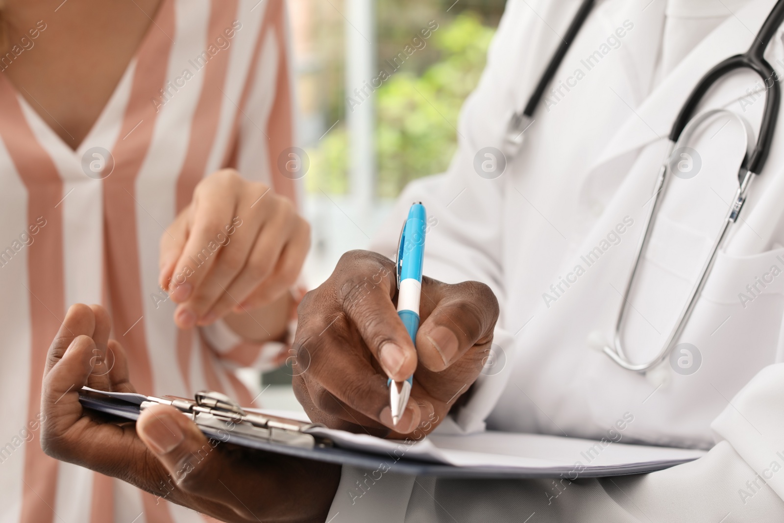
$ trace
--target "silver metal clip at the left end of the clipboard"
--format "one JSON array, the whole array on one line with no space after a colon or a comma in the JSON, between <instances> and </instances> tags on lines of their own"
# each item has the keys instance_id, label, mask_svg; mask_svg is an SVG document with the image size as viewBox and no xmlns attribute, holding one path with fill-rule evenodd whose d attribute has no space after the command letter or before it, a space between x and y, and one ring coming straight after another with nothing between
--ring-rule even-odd
<instances>
[{"instance_id":1,"label":"silver metal clip at the left end of the clipboard","mask_svg":"<svg viewBox=\"0 0 784 523\"><path fill-rule=\"evenodd\" d=\"M153 405L171 405L193 419L202 432L220 441L227 441L231 436L239 436L300 449L332 446L332 441L307 433L311 428L325 427L321 423L307 423L260 412L248 412L226 394L212 390L200 390L191 400L176 396L155 398L144 394L107 392L82 387L79 391L79 401L91 409L119 416L125 415L107 408L107 401L114 401L115 406L118 401L125 402L125 405L138 405L139 411L149 409Z\"/></svg>"}]
</instances>

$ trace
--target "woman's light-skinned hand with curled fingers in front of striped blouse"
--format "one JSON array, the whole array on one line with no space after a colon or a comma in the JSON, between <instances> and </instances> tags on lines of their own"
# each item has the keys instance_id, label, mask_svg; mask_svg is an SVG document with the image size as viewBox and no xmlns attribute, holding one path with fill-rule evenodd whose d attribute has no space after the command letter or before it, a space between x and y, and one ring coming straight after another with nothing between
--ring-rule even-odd
<instances>
[{"instance_id":1,"label":"woman's light-skinned hand with curled fingers in front of striped blouse","mask_svg":"<svg viewBox=\"0 0 784 523\"><path fill-rule=\"evenodd\" d=\"M223 169L198 183L162 234L158 284L179 304L182 329L271 304L285 328L289 307L274 302L290 300L309 248L310 226L288 198Z\"/></svg>"}]
</instances>

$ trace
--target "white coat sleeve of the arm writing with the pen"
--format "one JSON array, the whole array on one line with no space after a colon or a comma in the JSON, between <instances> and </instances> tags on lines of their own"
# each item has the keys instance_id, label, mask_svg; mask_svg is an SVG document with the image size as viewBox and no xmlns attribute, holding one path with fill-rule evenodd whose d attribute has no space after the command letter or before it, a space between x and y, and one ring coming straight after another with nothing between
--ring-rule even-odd
<instances>
[{"instance_id":1,"label":"white coat sleeve of the arm writing with the pen","mask_svg":"<svg viewBox=\"0 0 784 523\"><path fill-rule=\"evenodd\" d=\"M539 13L549 13L562 9L564 3L568 2L532 2L532 5ZM539 74L539 59L533 56L532 46L526 45L540 30L536 28L539 18L531 9L518 0L507 3L481 81L463 105L457 132L458 151L447 172L409 183L371 246L372 250L394 260L408 208L413 202L422 202L427 211L424 274L446 283L481 281L499 300L501 314L495 346L485 358L488 368L474 384L470 401L456 415L457 427L453 428L458 431L484 429L485 418L506 385L506 371L514 358L512 336L503 329L506 175L489 179L492 176L481 172L481 162L485 160L488 144L500 147L508 118L515 106L521 105L520 100L513 100L514 94L527 92L532 78ZM510 67L510 63L524 64L523 68L537 72L523 74L521 67Z\"/></svg>"}]
</instances>

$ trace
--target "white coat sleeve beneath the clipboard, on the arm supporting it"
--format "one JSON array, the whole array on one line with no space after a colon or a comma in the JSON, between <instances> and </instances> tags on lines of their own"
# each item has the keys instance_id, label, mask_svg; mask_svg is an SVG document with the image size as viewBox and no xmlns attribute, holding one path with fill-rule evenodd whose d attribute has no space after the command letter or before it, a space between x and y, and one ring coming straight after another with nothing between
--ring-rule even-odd
<instances>
[{"instance_id":1,"label":"white coat sleeve beneath the clipboard, on the arm supporting it","mask_svg":"<svg viewBox=\"0 0 784 523\"><path fill-rule=\"evenodd\" d=\"M330 517L339 512L340 521L369 521L366 514L376 514L377 523L784 521L782 383L784 364L760 371L714 421L720 441L691 463L636 476L529 480L413 478L394 474L394 466L379 478L373 470L343 467ZM378 481L367 481L374 473Z\"/></svg>"}]
</instances>

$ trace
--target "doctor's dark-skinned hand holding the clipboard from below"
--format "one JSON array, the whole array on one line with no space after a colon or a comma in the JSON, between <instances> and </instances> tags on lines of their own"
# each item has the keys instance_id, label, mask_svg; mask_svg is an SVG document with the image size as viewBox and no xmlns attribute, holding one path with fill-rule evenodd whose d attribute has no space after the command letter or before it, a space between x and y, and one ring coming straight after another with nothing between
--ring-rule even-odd
<instances>
[{"instance_id":1,"label":"doctor's dark-skinned hand holding the clipboard from below","mask_svg":"<svg viewBox=\"0 0 784 523\"><path fill-rule=\"evenodd\" d=\"M340 467L208 440L168 405L118 423L82 409L78 390L134 391L102 307L74 305L49 348L41 445L57 459L128 481L220 521L325 521ZM151 392L151 391L143 391Z\"/></svg>"}]
</instances>

